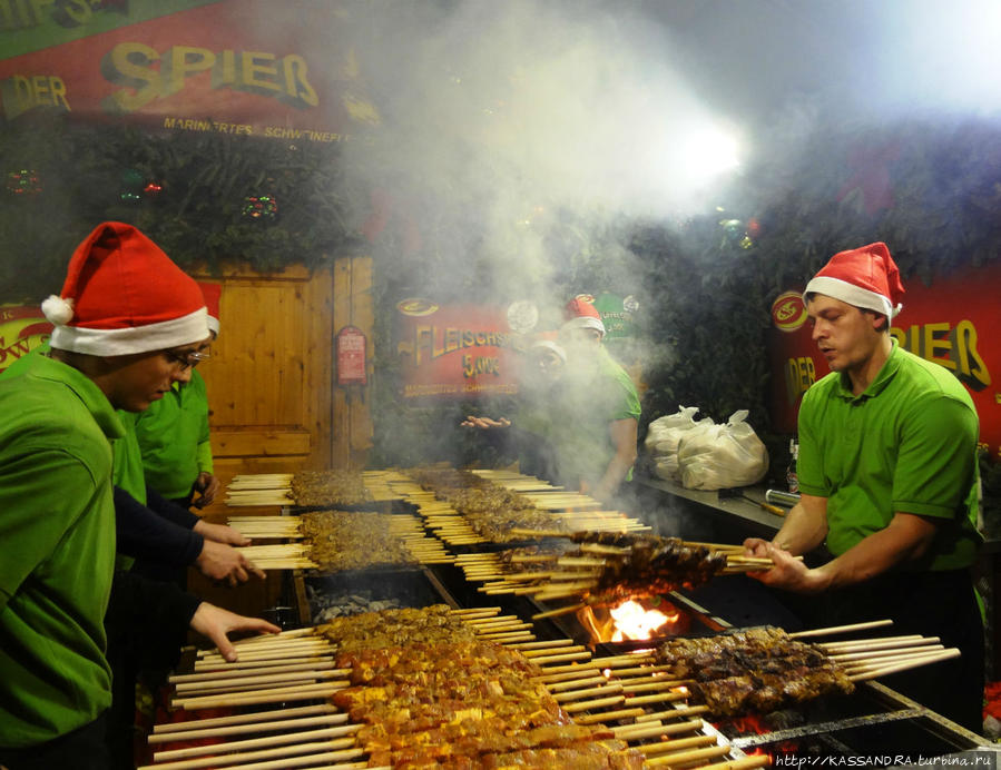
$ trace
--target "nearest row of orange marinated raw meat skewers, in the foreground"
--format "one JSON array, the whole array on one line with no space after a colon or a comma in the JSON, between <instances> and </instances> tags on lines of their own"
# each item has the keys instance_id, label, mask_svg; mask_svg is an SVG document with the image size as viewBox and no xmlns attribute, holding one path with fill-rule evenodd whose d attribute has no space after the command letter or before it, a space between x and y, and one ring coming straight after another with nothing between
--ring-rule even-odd
<instances>
[{"instance_id":1,"label":"nearest row of orange marinated raw meat skewers, in the foreground","mask_svg":"<svg viewBox=\"0 0 1001 770\"><path fill-rule=\"evenodd\" d=\"M631 770L656 767L650 761L658 757L660 763L673 763L690 751L708 749L706 757L730 753L715 731L693 719L701 710L677 710L666 720L630 729L583 719L588 711L621 705L627 697L634 699L630 712L642 713L645 704L668 704L681 695L654 682L635 655L596 662L569 640L523 641L533 640L530 631L516 628L523 625L517 618L498 613L498 608L364 613L328 626L244 642L235 664L203 654L195 673L174 678L175 707L286 708L268 711L266 718L247 714L225 718L225 723L161 725L150 739L156 746L236 740L158 751L150 767L258 767L294 757L307 764L323 754L327 762L343 762L333 767L362 767L352 762L367 757L369 767L434 762L445 768L519 763ZM612 671L621 674L615 681ZM297 705L318 698L327 702ZM318 710L305 711L314 708ZM611 719L618 718L612 713ZM267 738L238 738L271 731ZM630 748L641 740L634 732L655 731L667 737L661 746Z\"/></svg>"}]
</instances>

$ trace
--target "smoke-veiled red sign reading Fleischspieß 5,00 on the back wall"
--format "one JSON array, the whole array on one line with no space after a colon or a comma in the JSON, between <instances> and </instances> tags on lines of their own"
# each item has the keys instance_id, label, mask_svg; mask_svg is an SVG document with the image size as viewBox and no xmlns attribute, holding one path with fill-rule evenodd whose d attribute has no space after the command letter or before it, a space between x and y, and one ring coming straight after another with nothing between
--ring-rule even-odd
<instances>
[{"instance_id":1,"label":"smoke-veiled red sign reading Fleischspie\u00df 5,00 on the back wall","mask_svg":"<svg viewBox=\"0 0 1001 770\"><path fill-rule=\"evenodd\" d=\"M518 392L519 358L501 307L396 304L403 397L470 398Z\"/></svg>"}]
</instances>

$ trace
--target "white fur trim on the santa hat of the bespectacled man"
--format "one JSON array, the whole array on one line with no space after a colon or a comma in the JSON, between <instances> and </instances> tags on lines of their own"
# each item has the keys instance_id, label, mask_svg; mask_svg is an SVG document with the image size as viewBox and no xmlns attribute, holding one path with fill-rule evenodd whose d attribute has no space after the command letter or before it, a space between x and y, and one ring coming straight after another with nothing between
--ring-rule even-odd
<instances>
[{"instance_id":1,"label":"white fur trim on the santa hat of the bespectacled man","mask_svg":"<svg viewBox=\"0 0 1001 770\"><path fill-rule=\"evenodd\" d=\"M190 345L208 336L208 314L204 307L180 318L171 318L146 326L119 329L90 329L81 326L57 325L49 344L59 351L86 353L91 356L126 356L134 353L163 351Z\"/></svg>"}]
</instances>

